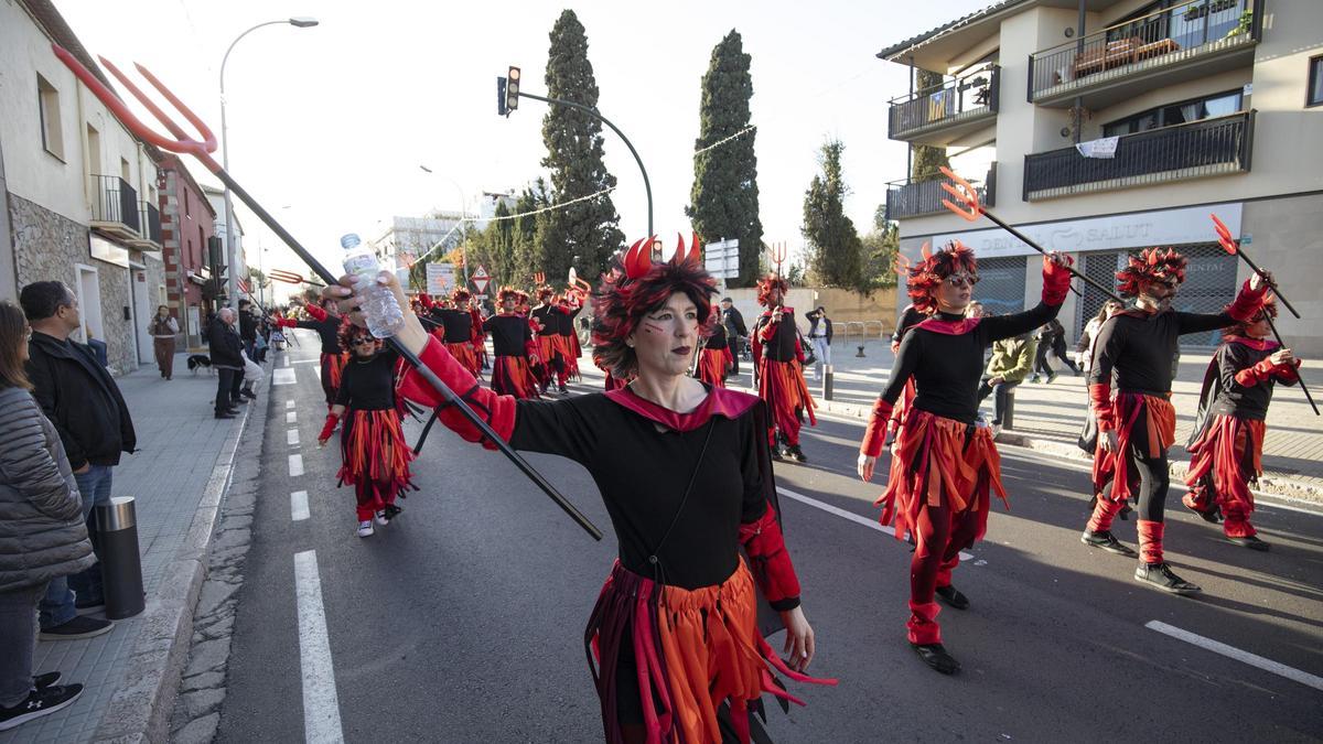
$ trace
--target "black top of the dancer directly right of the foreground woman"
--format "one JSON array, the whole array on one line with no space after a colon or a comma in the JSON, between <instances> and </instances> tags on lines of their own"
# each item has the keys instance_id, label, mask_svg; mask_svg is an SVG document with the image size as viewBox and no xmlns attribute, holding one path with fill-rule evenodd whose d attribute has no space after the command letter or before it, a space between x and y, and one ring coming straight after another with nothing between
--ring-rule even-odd
<instances>
[{"instance_id":1,"label":"black top of the dancer directly right of the foreground woman","mask_svg":"<svg viewBox=\"0 0 1323 744\"><path fill-rule=\"evenodd\" d=\"M983 349L991 343L1027 334L1054 318L1060 304L1043 304L1016 312L979 319L972 331L942 334L923 327L912 328L896 352L896 365L881 397L894 404L905 383L914 377L914 408L963 424L974 424L979 413L978 387L983 376ZM960 322L964 315L938 312L938 320Z\"/></svg>"}]
</instances>

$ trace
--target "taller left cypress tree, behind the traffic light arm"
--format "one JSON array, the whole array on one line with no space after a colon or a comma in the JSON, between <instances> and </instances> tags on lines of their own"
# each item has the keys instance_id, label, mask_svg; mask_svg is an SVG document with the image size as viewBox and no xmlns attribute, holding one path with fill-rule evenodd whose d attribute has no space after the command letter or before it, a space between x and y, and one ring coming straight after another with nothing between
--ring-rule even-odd
<instances>
[{"instance_id":1,"label":"taller left cypress tree, behind the traffic light arm","mask_svg":"<svg viewBox=\"0 0 1323 744\"><path fill-rule=\"evenodd\" d=\"M561 13L550 38L546 95L595 109L598 90L593 64L587 60L587 36L574 11ZM602 122L598 119L568 106L552 105L542 118L542 142L546 143L542 165L552 172L552 192L557 203L615 187L615 176L602 162ZM548 278L564 281L573 262L579 274L597 277L606 269L611 254L624 244L619 222L620 216L610 195L548 212L540 232L542 263L531 270L542 269Z\"/></svg>"}]
</instances>

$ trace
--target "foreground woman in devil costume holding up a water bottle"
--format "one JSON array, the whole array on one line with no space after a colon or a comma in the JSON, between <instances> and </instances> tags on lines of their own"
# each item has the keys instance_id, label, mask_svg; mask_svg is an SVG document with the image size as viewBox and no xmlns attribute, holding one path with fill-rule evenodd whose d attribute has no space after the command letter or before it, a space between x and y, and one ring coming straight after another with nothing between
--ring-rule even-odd
<instances>
[{"instance_id":1,"label":"foreground woman in devil costume holding up a water bottle","mask_svg":"<svg viewBox=\"0 0 1323 744\"><path fill-rule=\"evenodd\" d=\"M654 263L642 245L594 304L594 352L615 377L636 375L626 388L516 400L475 385L411 318L398 339L512 446L572 458L597 482L619 540L585 633L606 741L766 740L753 714L765 692L798 702L773 670L811 680L814 633L782 539L765 408L685 375L714 282L697 250ZM401 392L439 402L413 372ZM439 418L482 440L454 408ZM755 586L781 613L789 666L758 630Z\"/></svg>"}]
</instances>

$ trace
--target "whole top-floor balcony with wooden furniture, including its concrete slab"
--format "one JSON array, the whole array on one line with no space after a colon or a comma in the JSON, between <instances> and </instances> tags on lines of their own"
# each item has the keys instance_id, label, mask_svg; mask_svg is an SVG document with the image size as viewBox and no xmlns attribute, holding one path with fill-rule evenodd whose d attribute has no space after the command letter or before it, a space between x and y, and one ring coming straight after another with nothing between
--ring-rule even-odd
<instances>
[{"instance_id":1,"label":"whole top-floor balcony with wooden furniture, including its concrete slab","mask_svg":"<svg viewBox=\"0 0 1323 744\"><path fill-rule=\"evenodd\" d=\"M1254 64L1263 0L1192 0L1029 56L1029 103L1098 110Z\"/></svg>"}]
</instances>

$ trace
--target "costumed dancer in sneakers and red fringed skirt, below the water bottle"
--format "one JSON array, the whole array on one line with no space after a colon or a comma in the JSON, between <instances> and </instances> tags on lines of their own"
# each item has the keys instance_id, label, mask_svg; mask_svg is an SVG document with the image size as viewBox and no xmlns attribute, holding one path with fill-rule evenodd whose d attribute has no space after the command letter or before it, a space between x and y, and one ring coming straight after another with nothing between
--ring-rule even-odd
<instances>
[{"instance_id":1,"label":"costumed dancer in sneakers and red fringed skirt, below the water bottle","mask_svg":"<svg viewBox=\"0 0 1323 744\"><path fill-rule=\"evenodd\" d=\"M373 522L384 527L400 514L396 498L414 487L409 473L413 451L405 443L396 400L400 356L382 351L380 339L349 323L340 331L340 343L349 349L351 359L340 377L335 405L318 434L318 445L327 443L343 417L343 465L336 477L341 485L353 486L359 536L368 537L373 534Z\"/></svg>"}]
</instances>

